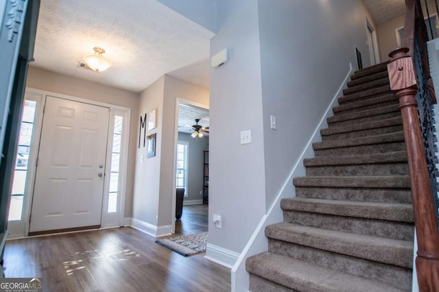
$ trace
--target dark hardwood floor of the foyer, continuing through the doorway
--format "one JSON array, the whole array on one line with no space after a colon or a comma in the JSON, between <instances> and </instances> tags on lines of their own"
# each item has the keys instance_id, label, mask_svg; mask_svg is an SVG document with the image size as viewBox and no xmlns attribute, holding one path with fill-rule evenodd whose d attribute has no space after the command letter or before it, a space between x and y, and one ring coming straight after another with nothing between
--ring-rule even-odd
<instances>
[{"instance_id":1,"label":"dark hardwood floor of the foyer, continuing through the doorway","mask_svg":"<svg viewBox=\"0 0 439 292\"><path fill-rule=\"evenodd\" d=\"M177 234L207 230L207 206L185 207ZM30 237L6 243L5 276L36 277L45 291L230 291L230 269L185 258L133 228Z\"/></svg>"}]
</instances>

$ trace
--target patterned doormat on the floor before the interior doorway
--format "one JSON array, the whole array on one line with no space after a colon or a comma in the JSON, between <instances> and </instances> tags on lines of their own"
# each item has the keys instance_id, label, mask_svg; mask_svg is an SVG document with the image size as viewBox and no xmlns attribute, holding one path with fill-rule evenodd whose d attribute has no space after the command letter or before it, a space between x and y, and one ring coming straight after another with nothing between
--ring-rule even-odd
<instances>
[{"instance_id":1,"label":"patterned doormat on the floor before the interior doorway","mask_svg":"<svg viewBox=\"0 0 439 292\"><path fill-rule=\"evenodd\" d=\"M187 236L176 236L170 239L157 239L156 243L169 248L182 256L192 256L200 252L206 252L207 239L209 238L207 232L200 232Z\"/></svg>"}]
</instances>

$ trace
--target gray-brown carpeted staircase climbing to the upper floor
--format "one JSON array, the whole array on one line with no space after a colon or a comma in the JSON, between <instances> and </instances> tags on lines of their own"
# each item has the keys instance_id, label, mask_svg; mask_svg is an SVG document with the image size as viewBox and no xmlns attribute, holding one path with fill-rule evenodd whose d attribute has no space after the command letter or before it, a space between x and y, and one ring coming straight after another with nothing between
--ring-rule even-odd
<instances>
[{"instance_id":1,"label":"gray-brown carpeted staircase climbing to the upper floor","mask_svg":"<svg viewBox=\"0 0 439 292\"><path fill-rule=\"evenodd\" d=\"M250 291L411 291L414 223L398 100L385 64L355 72L329 127L246 261Z\"/></svg>"}]
</instances>

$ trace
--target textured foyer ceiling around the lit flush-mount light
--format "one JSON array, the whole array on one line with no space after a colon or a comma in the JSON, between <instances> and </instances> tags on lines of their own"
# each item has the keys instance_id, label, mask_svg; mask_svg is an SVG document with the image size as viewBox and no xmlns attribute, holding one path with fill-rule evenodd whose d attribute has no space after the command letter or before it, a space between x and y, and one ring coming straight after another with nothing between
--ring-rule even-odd
<instances>
[{"instance_id":1,"label":"textured foyer ceiling around the lit flush-mount light","mask_svg":"<svg viewBox=\"0 0 439 292\"><path fill-rule=\"evenodd\" d=\"M42 0L32 66L134 92L166 73L208 87L212 36L156 0ZM112 67L78 68L96 46Z\"/></svg>"}]
</instances>

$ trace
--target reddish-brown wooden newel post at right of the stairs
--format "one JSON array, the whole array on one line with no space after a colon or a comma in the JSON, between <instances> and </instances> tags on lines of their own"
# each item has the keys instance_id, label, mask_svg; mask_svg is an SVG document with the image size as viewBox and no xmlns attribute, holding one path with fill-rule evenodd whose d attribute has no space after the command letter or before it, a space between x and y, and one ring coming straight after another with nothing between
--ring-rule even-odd
<instances>
[{"instance_id":1,"label":"reddish-brown wooden newel post at right of the stairs","mask_svg":"<svg viewBox=\"0 0 439 292\"><path fill-rule=\"evenodd\" d=\"M390 88L399 99L403 119L405 147L412 187L413 212L418 238L416 271L420 291L439 289L439 232L429 182L427 160L420 133L415 95L418 92L416 73L407 47L390 53L388 64Z\"/></svg>"}]
</instances>

